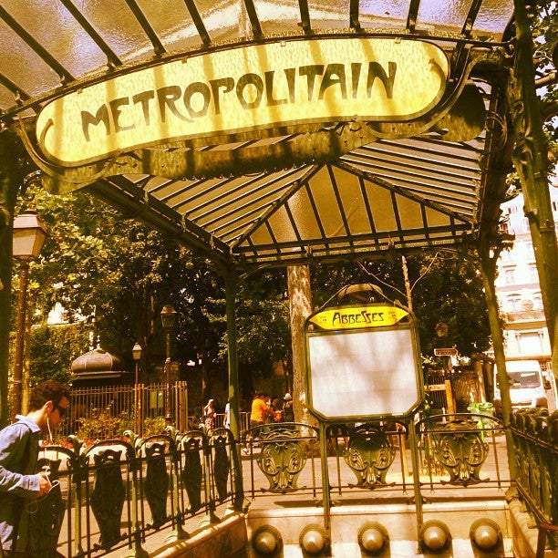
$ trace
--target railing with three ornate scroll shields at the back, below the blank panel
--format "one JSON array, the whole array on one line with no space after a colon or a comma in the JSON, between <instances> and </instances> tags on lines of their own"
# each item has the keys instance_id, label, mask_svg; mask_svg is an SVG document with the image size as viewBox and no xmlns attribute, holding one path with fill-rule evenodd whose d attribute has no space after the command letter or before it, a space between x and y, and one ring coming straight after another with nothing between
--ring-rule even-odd
<instances>
[{"instance_id":1,"label":"railing with three ornate scroll shields at the back, below the blank panel","mask_svg":"<svg viewBox=\"0 0 558 558\"><path fill-rule=\"evenodd\" d=\"M360 499L372 492L375 498L382 491L390 497L394 491L404 494L413 490L415 463L419 484L430 493L479 485L501 492L510 485L503 434L498 418L472 413L437 415L410 424L329 424L325 443L318 428L263 425L243 436L244 459L249 461L244 488L249 481L253 498L258 492L297 492L302 497L301 491L315 497L324 490L323 479L316 480L323 457L327 486L335 497L356 490ZM262 476L269 486L258 488Z\"/></svg>"}]
</instances>

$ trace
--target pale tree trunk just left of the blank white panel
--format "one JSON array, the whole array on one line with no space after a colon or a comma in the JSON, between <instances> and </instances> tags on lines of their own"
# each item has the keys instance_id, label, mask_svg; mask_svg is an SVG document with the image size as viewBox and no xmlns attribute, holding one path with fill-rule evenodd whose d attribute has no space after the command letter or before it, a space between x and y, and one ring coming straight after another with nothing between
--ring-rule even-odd
<instances>
[{"instance_id":1,"label":"pale tree trunk just left of the blank white panel","mask_svg":"<svg viewBox=\"0 0 558 558\"><path fill-rule=\"evenodd\" d=\"M305 387L305 320L312 314L310 268L307 265L287 267L287 283L293 346L294 420L317 425L317 421L306 407Z\"/></svg>"}]
</instances>

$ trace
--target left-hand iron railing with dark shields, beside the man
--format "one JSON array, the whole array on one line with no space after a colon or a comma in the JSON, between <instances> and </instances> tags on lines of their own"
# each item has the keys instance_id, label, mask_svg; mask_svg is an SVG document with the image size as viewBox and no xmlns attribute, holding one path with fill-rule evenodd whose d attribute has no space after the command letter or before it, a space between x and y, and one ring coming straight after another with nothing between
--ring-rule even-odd
<instances>
[{"instance_id":1,"label":"left-hand iron railing with dark shields, beside the man","mask_svg":"<svg viewBox=\"0 0 558 558\"><path fill-rule=\"evenodd\" d=\"M230 504L234 471L230 430L107 439L86 447L70 436L72 448L47 446L39 467L48 467L57 485L36 502L34 551L92 556L129 549L145 555L150 533L172 527L171 538L185 539L188 518L218 521L217 505ZM48 528L48 533L47 533ZM48 536L47 536L48 534Z\"/></svg>"}]
</instances>

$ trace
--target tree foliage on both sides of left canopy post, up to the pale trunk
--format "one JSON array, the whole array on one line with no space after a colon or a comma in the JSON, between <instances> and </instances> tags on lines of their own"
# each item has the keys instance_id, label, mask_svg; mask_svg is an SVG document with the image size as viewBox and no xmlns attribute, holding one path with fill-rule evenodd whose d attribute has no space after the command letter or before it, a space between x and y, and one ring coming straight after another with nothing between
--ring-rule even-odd
<instances>
[{"instance_id":1,"label":"tree foliage on both sides of left canopy post, up to the pale trunk","mask_svg":"<svg viewBox=\"0 0 558 558\"><path fill-rule=\"evenodd\" d=\"M38 310L31 316L35 323L44 324L59 302L70 323L89 318L88 327L96 327L103 348L128 360L129 367L131 346L139 340L144 349L141 369L152 370L160 366L165 350L160 310L174 305L173 356L181 362L201 357L209 389L209 370L224 370L226 361L224 288L212 263L125 219L87 192L50 196L33 191L25 203L39 212L50 231L33 264L29 288ZM271 363L289 354L285 291L281 270L255 274L241 285L238 342L249 385L251 372L269 374ZM50 340L43 332L38 343L48 345ZM75 353L73 346L68 357L86 350L88 341L81 341L81 351ZM47 369L64 375L68 366L69 361L54 358ZM153 379L152 374L144 376L145 381Z\"/></svg>"}]
</instances>

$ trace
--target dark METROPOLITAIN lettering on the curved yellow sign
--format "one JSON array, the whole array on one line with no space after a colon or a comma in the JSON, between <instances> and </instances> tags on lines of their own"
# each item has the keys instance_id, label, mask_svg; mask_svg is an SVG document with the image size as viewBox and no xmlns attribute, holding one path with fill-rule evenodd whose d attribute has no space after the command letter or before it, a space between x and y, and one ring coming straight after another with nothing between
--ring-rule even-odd
<instances>
[{"instance_id":1,"label":"dark METROPOLITAIN lettering on the curved yellow sign","mask_svg":"<svg viewBox=\"0 0 558 558\"><path fill-rule=\"evenodd\" d=\"M107 136L140 126L179 119L195 123L197 119L222 114L224 101L239 109L253 110L262 106L295 104L323 100L333 94L338 98L373 98L374 84L379 82L387 99L393 98L397 63L387 67L378 62L313 64L246 73L233 77L193 81L157 89L140 91L129 97L114 98L99 105L95 112L81 111L81 129L90 141L91 128L101 127Z\"/></svg>"}]
</instances>

